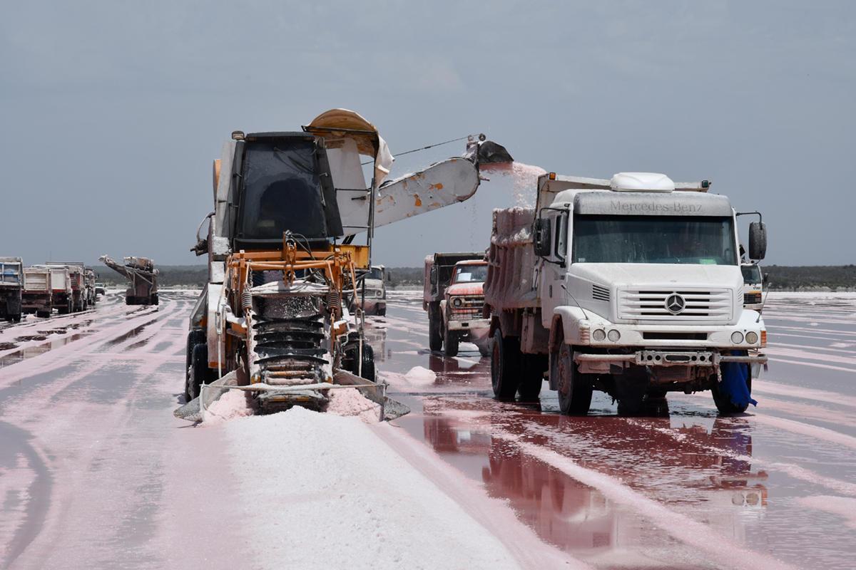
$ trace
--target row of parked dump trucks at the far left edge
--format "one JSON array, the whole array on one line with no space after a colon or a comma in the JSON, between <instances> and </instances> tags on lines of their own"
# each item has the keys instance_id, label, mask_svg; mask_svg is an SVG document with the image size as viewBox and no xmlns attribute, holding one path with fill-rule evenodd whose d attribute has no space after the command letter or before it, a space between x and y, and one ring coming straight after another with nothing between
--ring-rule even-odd
<instances>
[{"instance_id":1,"label":"row of parked dump trucks at the far left edge","mask_svg":"<svg viewBox=\"0 0 856 570\"><path fill-rule=\"evenodd\" d=\"M46 318L84 311L104 293L95 271L82 261L46 261L24 267L21 257L0 257L0 319L13 322L23 314Z\"/></svg>"}]
</instances>

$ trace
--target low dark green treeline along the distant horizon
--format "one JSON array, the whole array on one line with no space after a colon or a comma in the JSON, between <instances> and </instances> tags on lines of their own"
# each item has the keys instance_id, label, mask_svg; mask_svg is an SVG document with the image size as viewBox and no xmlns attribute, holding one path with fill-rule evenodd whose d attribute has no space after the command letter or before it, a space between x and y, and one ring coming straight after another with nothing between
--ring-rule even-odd
<instances>
[{"instance_id":1,"label":"low dark green treeline along the distant horizon","mask_svg":"<svg viewBox=\"0 0 856 570\"><path fill-rule=\"evenodd\" d=\"M158 266L156 266L158 267ZM110 267L95 267L101 283L121 286L126 283ZM856 290L856 265L817 265L788 267L762 266L768 275L770 291L847 291ZM208 267L205 265L162 265L158 267L158 286L199 288L205 285ZM389 289L421 289L425 275L423 267L388 267Z\"/></svg>"}]
</instances>

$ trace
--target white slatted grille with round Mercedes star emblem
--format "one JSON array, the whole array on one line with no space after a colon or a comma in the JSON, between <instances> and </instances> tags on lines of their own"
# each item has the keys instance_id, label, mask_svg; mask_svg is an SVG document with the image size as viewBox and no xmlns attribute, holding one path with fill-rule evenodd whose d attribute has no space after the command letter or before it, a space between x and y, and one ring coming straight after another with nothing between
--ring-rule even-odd
<instances>
[{"instance_id":1,"label":"white slatted grille with round Mercedes star emblem","mask_svg":"<svg viewBox=\"0 0 856 570\"><path fill-rule=\"evenodd\" d=\"M678 294L685 308L675 314L666 308L666 300ZM690 291L674 289L625 289L618 291L618 318L629 320L731 320L732 295L728 289Z\"/></svg>"}]
</instances>

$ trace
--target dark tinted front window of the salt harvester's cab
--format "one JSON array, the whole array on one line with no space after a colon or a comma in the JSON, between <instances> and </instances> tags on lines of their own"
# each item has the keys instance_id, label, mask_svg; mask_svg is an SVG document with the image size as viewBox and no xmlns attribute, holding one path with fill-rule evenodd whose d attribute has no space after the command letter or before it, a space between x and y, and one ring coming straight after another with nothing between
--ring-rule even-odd
<instances>
[{"instance_id":1,"label":"dark tinted front window of the salt harvester's cab","mask_svg":"<svg viewBox=\"0 0 856 570\"><path fill-rule=\"evenodd\" d=\"M314 150L312 141L247 141L239 236L326 237Z\"/></svg>"}]
</instances>

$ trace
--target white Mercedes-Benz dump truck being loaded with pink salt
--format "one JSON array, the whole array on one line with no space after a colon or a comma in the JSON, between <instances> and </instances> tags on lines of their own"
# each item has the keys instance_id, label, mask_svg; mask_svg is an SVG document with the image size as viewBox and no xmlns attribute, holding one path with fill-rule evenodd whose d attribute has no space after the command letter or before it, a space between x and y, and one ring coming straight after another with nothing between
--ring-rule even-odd
<instances>
[{"instance_id":1,"label":"white Mercedes-Benz dump truck being loaded with pink salt","mask_svg":"<svg viewBox=\"0 0 856 570\"><path fill-rule=\"evenodd\" d=\"M740 214L709 186L549 173L535 209L494 210L484 314L496 397L538 397L547 378L564 414L586 414L592 390L631 413L704 390L723 414L744 411L766 331L743 306ZM749 250L764 258L760 220Z\"/></svg>"}]
</instances>

